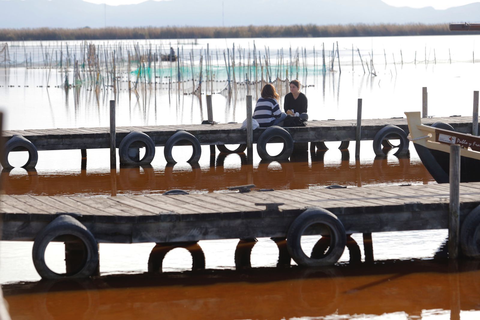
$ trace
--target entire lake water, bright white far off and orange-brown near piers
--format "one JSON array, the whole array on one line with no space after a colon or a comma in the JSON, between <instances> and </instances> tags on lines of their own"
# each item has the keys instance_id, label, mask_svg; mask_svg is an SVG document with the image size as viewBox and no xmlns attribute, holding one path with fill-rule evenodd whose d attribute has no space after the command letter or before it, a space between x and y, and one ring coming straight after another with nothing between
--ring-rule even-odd
<instances>
[{"instance_id":1,"label":"entire lake water, bright white far off and orange-brown near piers","mask_svg":"<svg viewBox=\"0 0 480 320\"><path fill-rule=\"evenodd\" d=\"M66 42L29 42L25 47L23 43L9 43L10 66L7 61L4 67L0 56L0 108L5 112L6 130L107 127L111 99L117 101L118 126L191 124L206 119L205 95L212 93L214 120L241 122L246 117L247 93L255 101L261 89L261 83L245 84L247 78L254 81L255 74L261 81L261 68L252 67L255 44L260 51L256 58L260 55L263 59L264 79L264 63L270 52L269 72L271 69L280 78L273 77L272 81L282 102L288 84L284 80L297 78L295 56L299 48L298 78L305 85L301 91L309 100L310 119L356 119L358 98L363 99L363 119L403 117L404 111L421 110L425 86L429 115L466 116L472 113L472 91L479 90L476 74L480 59L474 60L475 50L480 50L480 41L475 41L478 37L198 39L195 45L167 40L93 42L96 50L107 53L107 57L121 47L124 58L127 50L135 52L133 46L137 43L140 53L150 48L151 52L166 53L170 46L175 51L179 47L183 58L179 65L158 65L155 61L155 68L148 69L145 57L142 64L132 63L132 82L140 66L142 72L143 64L147 70L140 73L143 80L139 77L138 96L129 93L126 61L117 60L119 78L115 90L108 87L112 78L106 70L100 72L96 89L88 65L80 72L82 86L65 90L65 70L60 69L59 55L61 49L64 66ZM333 71L328 67L336 41L341 72L338 60ZM328 69L325 72L321 66L322 43ZM207 44L211 56L208 67L204 64ZM233 81L235 70L238 83L236 88L231 83L228 94L224 90L228 86L228 68L223 52L227 53L228 48L231 55L234 44L235 56L230 56L227 65L235 60L230 76ZM88 44L78 41L68 42L68 46L70 63L73 54L82 62L82 50ZM302 51L306 53L303 58ZM369 63L371 68L372 53L376 75L369 74L366 67ZM202 94L192 95L200 79L201 58ZM290 69L292 60L294 66ZM176 83L179 70L180 83ZM213 81L207 81L210 75ZM67 70L67 78L73 83L72 67ZM6 194L62 196L161 194L171 189L222 192L229 186L248 183L274 189L435 183L412 146L405 158L390 152L386 158L375 159L372 142L362 142L360 159L356 161L353 144L351 154L339 151L338 142L326 144L330 148L327 152L308 152L281 163L260 161L254 149L253 165L244 164L244 154L217 152L210 156L208 146L204 146L198 165L185 162L190 147L175 147L178 164L167 166L163 147L157 147L151 166L118 167L113 173L106 149L88 150L84 162L78 150L41 151L36 170L2 171L0 180ZM277 148L271 146L272 151ZM23 152L12 153L9 161L23 165L26 158ZM112 174L116 175L116 188L111 185ZM458 268L447 264L441 250L446 230L372 236L373 263L365 261L362 235L354 234L352 238L361 253L357 263L349 262L346 249L333 268L301 269L293 261L291 267L279 268L276 244L270 239L258 239L252 249L252 268L237 269L234 253L238 239L234 239L199 243L206 271L189 271L192 258L188 251L174 249L164 261L164 273L158 276L146 273L155 244L100 244L99 277L60 283L39 281L31 258L31 242L2 241L0 283L13 319L479 319L478 263L463 262ZM307 237L307 246L313 246L316 240ZM65 268L63 249L62 244L48 246L47 263L57 272Z\"/></svg>"}]
</instances>

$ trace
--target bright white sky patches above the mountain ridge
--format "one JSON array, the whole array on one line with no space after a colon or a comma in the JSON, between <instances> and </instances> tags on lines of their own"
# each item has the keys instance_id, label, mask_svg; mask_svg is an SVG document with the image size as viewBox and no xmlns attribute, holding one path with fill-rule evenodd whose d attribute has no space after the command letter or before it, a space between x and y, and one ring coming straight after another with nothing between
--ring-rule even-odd
<instances>
[{"instance_id":1,"label":"bright white sky patches above the mountain ridge","mask_svg":"<svg viewBox=\"0 0 480 320\"><path fill-rule=\"evenodd\" d=\"M85 0L92 3L107 3L108 5L133 4L144 2L145 0ZM162 1L162 0L155 0ZM382 0L385 3L396 7L412 7L422 8L431 6L435 9L447 9L455 6L461 6L472 2L480 2L475 0Z\"/></svg>"}]
</instances>

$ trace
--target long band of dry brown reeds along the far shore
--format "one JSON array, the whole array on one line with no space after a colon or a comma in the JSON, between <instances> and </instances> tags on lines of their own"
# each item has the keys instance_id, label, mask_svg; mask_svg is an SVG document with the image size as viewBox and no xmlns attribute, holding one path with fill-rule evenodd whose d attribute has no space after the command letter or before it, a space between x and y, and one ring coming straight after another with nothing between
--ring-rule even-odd
<instances>
[{"instance_id":1,"label":"long band of dry brown reeds along the far shore","mask_svg":"<svg viewBox=\"0 0 480 320\"><path fill-rule=\"evenodd\" d=\"M474 35L479 32L452 32L448 24L338 24L235 27L135 27L135 28L24 28L0 29L0 41L29 40L117 40L196 38L276 38L354 36L443 36Z\"/></svg>"}]
</instances>

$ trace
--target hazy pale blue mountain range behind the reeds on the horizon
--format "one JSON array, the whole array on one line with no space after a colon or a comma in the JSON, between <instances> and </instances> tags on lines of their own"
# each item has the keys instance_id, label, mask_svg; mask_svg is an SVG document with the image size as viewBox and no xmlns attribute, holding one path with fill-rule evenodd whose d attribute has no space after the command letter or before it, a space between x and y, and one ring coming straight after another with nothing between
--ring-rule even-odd
<instances>
[{"instance_id":1,"label":"hazy pale blue mountain range behind the reeds on the horizon","mask_svg":"<svg viewBox=\"0 0 480 320\"><path fill-rule=\"evenodd\" d=\"M119 6L82 0L0 0L0 12L0 28L480 21L480 3L435 10L396 8L381 0L168 0Z\"/></svg>"}]
</instances>

